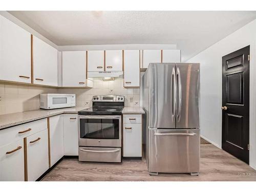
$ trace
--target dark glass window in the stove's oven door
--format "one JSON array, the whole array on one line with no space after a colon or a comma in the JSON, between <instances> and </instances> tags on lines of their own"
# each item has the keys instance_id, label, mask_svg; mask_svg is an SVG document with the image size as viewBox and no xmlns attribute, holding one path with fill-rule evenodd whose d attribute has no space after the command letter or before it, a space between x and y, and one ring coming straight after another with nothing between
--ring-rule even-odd
<instances>
[{"instance_id":1,"label":"dark glass window in the stove's oven door","mask_svg":"<svg viewBox=\"0 0 256 192\"><path fill-rule=\"evenodd\" d=\"M119 139L119 119L80 119L80 138Z\"/></svg>"}]
</instances>

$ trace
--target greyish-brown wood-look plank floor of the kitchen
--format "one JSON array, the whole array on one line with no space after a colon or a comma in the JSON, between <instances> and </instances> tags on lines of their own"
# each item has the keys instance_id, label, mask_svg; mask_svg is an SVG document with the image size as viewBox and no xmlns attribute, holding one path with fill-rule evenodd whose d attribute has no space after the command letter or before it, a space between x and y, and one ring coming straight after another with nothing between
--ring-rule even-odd
<instances>
[{"instance_id":1,"label":"greyish-brown wood-look plank floor of the kitchen","mask_svg":"<svg viewBox=\"0 0 256 192\"><path fill-rule=\"evenodd\" d=\"M256 181L256 170L212 144L203 144L199 176L150 176L145 159L122 163L91 163L64 159L42 181Z\"/></svg>"}]
</instances>

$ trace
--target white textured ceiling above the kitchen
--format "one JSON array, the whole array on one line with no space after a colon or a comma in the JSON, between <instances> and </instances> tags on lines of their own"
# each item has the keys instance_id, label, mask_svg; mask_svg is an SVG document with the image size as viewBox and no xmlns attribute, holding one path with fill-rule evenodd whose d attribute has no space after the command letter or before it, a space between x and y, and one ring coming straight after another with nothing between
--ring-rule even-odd
<instances>
[{"instance_id":1,"label":"white textured ceiling above the kitchen","mask_svg":"<svg viewBox=\"0 0 256 192\"><path fill-rule=\"evenodd\" d=\"M256 11L9 11L58 46L177 44L185 61Z\"/></svg>"}]
</instances>

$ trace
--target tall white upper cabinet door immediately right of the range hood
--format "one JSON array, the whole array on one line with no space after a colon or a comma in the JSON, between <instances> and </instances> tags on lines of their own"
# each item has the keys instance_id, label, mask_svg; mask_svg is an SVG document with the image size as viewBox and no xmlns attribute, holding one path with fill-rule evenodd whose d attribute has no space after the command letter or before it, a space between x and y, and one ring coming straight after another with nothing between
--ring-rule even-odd
<instances>
[{"instance_id":1,"label":"tall white upper cabinet door immediately right of the range hood","mask_svg":"<svg viewBox=\"0 0 256 192\"><path fill-rule=\"evenodd\" d=\"M140 86L140 52L139 50L124 51L124 77L123 86L139 87Z\"/></svg>"}]
</instances>

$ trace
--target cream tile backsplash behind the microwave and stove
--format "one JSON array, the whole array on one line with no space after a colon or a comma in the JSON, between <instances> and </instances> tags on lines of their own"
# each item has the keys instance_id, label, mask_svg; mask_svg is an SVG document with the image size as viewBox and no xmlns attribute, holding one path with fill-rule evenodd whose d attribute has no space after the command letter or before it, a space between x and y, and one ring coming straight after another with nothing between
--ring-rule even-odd
<instances>
[{"instance_id":1,"label":"cream tile backsplash behind the microwave and stove","mask_svg":"<svg viewBox=\"0 0 256 192\"><path fill-rule=\"evenodd\" d=\"M92 106L93 95L122 95L125 106L140 106L140 89L123 88L123 79L94 79L94 88L47 88L0 82L0 115L39 109L41 93L76 94L76 106Z\"/></svg>"}]
</instances>

